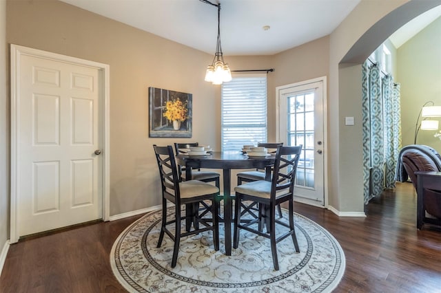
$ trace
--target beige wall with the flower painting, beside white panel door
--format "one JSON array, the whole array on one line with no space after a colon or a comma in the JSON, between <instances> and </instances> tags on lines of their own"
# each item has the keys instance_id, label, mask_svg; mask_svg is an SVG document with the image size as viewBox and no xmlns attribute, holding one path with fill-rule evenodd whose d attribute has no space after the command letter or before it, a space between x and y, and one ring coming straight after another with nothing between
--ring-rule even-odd
<instances>
[{"instance_id":1,"label":"beige wall with the flower painting, beside white panel door","mask_svg":"<svg viewBox=\"0 0 441 293\"><path fill-rule=\"evenodd\" d=\"M161 203L152 144L220 148L211 55L59 1L8 1L7 14L8 43L110 65L110 215ZM191 139L148 137L150 86L193 94Z\"/></svg>"}]
</instances>

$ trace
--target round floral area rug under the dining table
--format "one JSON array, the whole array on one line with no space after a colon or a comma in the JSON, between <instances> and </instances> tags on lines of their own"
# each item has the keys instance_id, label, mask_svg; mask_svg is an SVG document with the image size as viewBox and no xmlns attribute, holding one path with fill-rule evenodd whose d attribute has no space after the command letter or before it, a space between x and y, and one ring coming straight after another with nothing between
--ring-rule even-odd
<instances>
[{"instance_id":1,"label":"round floral area rug under the dining table","mask_svg":"<svg viewBox=\"0 0 441 293\"><path fill-rule=\"evenodd\" d=\"M288 219L287 210L283 219ZM240 230L238 248L225 255L223 223L220 250L214 250L212 231L185 237L171 268L173 241L164 235L161 248L156 248L161 210L147 213L119 235L110 262L128 292L331 292L345 272L340 244L302 215L295 213L294 222L300 253L291 237L280 241L278 271L269 239L245 230Z\"/></svg>"}]
</instances>

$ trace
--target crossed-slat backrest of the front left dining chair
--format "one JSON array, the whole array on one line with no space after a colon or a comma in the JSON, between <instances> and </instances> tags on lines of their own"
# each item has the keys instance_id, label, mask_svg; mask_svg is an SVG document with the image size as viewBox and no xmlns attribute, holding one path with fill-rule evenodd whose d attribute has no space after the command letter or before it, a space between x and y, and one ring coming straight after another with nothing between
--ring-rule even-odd
<instances>
[{"instance_id":1,"label":"crossed-slat backrest of the front left dining chair","mask_svg":"<svg viewBox=\"0 0 441 293\"><path fill-rule=\"evenodd\" d=\"M166 195L169 195L169 199L174 197L174 203L180 204L179 175L173 148L154 144L153 149L158 162L163 197Z\"/></svg>"}]
</instances>

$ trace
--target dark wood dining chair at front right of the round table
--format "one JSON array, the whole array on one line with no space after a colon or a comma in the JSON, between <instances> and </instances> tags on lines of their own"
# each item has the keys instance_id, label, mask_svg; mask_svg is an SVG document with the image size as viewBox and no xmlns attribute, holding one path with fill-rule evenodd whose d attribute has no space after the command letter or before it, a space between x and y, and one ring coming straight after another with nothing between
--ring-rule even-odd
<instances>
[{"instance_id":1,"label":"dark wood dining chair at front right of the round table","mask_svg":"<svg viewBox=\"0 0 441 293\"><path fill-rule=\"evenodd\" d=\"M278 146L271 182L258 180L234 188L234 191L236 191L236 203L234 204L236 218L234 219L233 248L238 248L241 229L270 239L274 270L279 269L276 243L291 236L296 252L300 252L294 228L294 181L301 151L302 145ZM251 214L253 218L255 217L254 210L243 207L242 202L244 201L257 203L264 206L265 210L258 213L258 219L247 222L241 221L240 218L247 213ZM276 219L276 205L283 202L288 202L289 224ZM244 210L241 210L241 208L244 208ZM267 232L262 232L260 228L264 218L267 223ZM256 224L258 228L255 227ZM276 224L278 224L278 228L284 226L289 230L276 238Z\"/></svg>"}]
</instances>

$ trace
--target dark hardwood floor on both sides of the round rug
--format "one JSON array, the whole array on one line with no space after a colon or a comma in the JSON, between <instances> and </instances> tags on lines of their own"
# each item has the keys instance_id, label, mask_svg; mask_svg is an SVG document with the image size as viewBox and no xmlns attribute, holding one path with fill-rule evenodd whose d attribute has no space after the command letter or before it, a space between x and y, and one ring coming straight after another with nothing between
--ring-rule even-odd
<instances>
[{"instance_id":1,"label":"dark hardwood floor on both sides of the round rug","mask_svg":"<svg viewBox=\"0 0 441 293\"><path fill-rule=\"evenodd\" d=\"M338 217L295 204L297 213L340 242L346 271L334 292L441 292L441 231L416 229L416 193L399 183L366 206L366 218ZM135 219L74 228L10 246L0 292L125 292L109 255L116 237Z\"/></svg>"}]
</instances>

